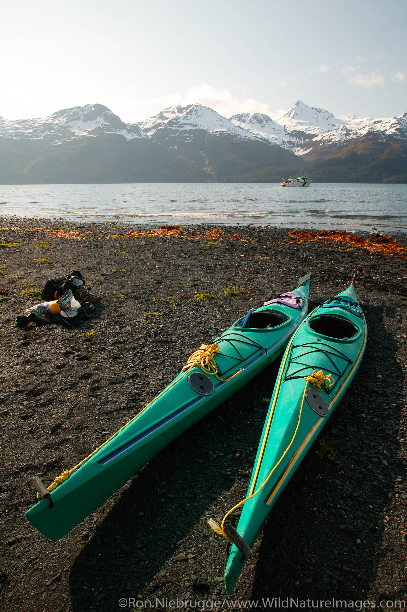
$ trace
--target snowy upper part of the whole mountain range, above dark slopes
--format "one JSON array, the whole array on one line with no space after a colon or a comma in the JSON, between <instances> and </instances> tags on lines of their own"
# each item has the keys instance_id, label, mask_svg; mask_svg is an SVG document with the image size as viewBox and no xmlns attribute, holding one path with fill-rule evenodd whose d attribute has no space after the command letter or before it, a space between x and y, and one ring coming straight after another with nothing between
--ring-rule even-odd
<instances>
[{"instance_id":1,"label":"snowy upper part of the whole mountain range, above dark slopes","mask_svg":"<svg viewBox=\"0 0 407 612\"><path fill-rule=\"evenodd\" d=\"M126 140L149 138L170 148L207 135L244 141L262 141L296 155L347 146L368 132L407 143L407 113L400 117L342 117L307 106L302 100L277 121L260 113L235 114L229 119L202 104L171 106L145 121L126 124L101 104L74 106L40 119L9 121L0 117L0 137L61 143L82 136L116 134ZM202 146L202 142L200 142Z\"/></svg>"}]
</instances>

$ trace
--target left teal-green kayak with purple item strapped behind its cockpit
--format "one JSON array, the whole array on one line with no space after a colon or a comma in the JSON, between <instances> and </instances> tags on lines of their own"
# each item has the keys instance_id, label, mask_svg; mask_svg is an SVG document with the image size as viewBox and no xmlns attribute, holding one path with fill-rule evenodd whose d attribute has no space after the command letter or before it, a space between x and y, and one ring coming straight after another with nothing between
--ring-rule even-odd
<instances>
[{"instance_id":1,"label":"left teal-green kayak with purple item strapped behind its cockpit","mask_svg":"<svg viewBox=\"0 0 407 612\"><path fill-rule=\"evenodd\" d=\"M306 318L311 280L306 275L298 289L249 310L213 345L202 345L163 392L48 491L36 478L40 501L26 512L28 520L49 539L59 539L169 442L259 374Z\"/></svg>"}]
</instances>

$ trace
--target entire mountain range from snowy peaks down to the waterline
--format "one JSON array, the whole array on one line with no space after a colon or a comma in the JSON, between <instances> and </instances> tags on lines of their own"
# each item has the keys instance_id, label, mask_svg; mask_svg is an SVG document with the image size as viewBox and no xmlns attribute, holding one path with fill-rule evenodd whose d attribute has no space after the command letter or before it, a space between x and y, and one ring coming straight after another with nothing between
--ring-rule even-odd
<instances>
[{"instance_id":1,"label":"entire mountain range from snowy peaks down to the waterline","mask_svg":"<svg viewBox=\"0 0 407 612\"><path fill-rule=\"evenodd\" d=\"M200 103L169 106L133 124L101 104L46 118L0 117L3 184L267 182L298 172L314 181L405 182L407 111L393 118L336 118L297 100L278 121L264 113L226 118Z\"/></svg>"}]
</instances>

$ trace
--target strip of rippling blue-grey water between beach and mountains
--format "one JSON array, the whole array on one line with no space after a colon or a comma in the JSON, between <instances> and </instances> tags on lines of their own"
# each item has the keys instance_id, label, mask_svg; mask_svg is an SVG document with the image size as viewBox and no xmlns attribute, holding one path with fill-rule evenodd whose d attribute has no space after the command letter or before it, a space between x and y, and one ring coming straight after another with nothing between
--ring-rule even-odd
<instances>
[{"instance_id":1,"label":"strip of rippling blue-grey water between beach and mountains","mask_svg":"<svg viewBox=\"0 0 407 612\"><path fill-rule=\"evenodd\" d=\"M0 185L0 216L407 232L407 184Z\"/></svg>"}]
</instances>

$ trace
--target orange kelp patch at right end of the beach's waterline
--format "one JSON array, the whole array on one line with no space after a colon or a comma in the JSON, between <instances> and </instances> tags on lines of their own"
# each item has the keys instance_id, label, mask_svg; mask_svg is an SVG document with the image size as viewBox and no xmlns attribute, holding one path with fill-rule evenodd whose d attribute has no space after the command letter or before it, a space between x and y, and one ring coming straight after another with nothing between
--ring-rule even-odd
<instances>
[{"instance_id":1,"label":"orange kelp patch at right end of the beach's waterline","mask_svg":"<svg viewBox=\"0 0 407 612\"><path fill-rule=\"evenodd\" d=\"M366 248L372 253L384 253L389 257L407 258L407 247L400 242L396 242L391 236L381 236L381 234L373 234L364 239L358 234L342 230L293 230L288 232L288 236L295 238L295 244L309 241L317 242L320 239L328 238L332 241L348 244L348 248L352 245L353 248ZM329 244L329 242L325 241L325 244Z\"/></svg>"}]
</instances>

